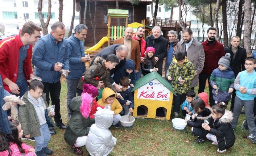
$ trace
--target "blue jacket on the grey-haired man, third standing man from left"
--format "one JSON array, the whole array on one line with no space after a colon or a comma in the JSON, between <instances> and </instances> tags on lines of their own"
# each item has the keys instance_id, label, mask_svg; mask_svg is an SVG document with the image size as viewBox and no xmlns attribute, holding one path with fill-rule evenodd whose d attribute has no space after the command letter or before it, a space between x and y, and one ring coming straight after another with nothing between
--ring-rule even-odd
<instances>
[{"instance_id":1,"label":"blue jacket on the grey-haired man, third standing man from left","mask_svg":"<svg viewBox=\"0 0 256 156\"><path fill-rule=\"evenodd\" d=\"M84 45L83 41L72 34L68 39L69 44L69 76L66 79L80 79L85 71L85 64L81 62L81 58L84 57Z\"/></svg>"}]
</instances>

